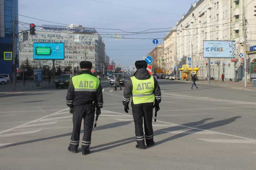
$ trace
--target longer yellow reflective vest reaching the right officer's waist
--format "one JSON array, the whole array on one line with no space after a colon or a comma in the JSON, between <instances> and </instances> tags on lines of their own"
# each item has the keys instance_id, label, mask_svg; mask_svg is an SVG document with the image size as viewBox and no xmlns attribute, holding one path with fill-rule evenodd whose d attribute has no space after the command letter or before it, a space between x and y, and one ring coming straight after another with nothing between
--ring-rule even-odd
<instances>
[{"instance_id":1,"label":"longer yellow reflective vest reaching the right officer's waist","mask_svg":"<svg viewBox=\"0 0 256 170\"><path fill-rule=\"evenodd\" d=\"M132 80L132 101L133 104L150 103L155 101L153 93L155 82L153 76L146 80L139 80L135 76Z\"/></svg>"}]
</instances>

